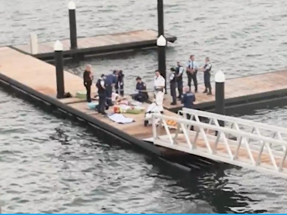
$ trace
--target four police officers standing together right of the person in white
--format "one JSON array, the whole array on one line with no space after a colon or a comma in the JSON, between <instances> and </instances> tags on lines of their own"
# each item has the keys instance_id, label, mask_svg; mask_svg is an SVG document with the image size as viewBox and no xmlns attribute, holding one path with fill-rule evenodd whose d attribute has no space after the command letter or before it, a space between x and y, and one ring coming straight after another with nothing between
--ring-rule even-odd
<instances>
[{"instance_id":1,"label":"four police officers standing together right of the person in white","mask_svg":"<svg viewBox=\"0 0 287 215\"><path fill-rule=\"evenodd\" d=\"M187 74L187 86L189 87L189 91L191 92L191 82L194 84L194 93L198 92L198 84L197 84L197 72L204 72L204 85L205 90L203 93L207 93L207 95L212 95L211 92L211 84L210 84L210 71L211 71L211 63L209 57L205 58L205 64L202 68L199 68L198 63L195 61L195 56L190 55L190 59L187 62L186 66L186 74ZM184 67L180 62L177 62L176 68L171 68L170 74L170 94L172 96L171 105L176 105L176 99L181 100L183 93L183 81L182 76L184 74ZM178 97L176 97L176 88L178 89Z\"/></svg>"}]
</instances>

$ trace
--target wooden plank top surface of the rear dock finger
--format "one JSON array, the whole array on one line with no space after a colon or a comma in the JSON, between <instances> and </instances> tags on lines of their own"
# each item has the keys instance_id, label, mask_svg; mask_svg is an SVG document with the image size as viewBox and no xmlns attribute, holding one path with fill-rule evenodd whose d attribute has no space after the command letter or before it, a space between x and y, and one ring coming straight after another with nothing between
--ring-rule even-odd
<instances>
[{"instance_id":1,"label":"wooden plank top surface of the rear dock finger","mask_svg":"<svg viewBox=\"0 0 287 215\"><path fill-rule=\"evenodd\" d=\"M173 41L173 36L166 34L167 40ZM154 30L139 30L139 31L130 31L123 33L114 33L106 35L96 35L91 37L80 37L77 39L78 49L86 48L97 48L102 46L109 45L119 45L119 44L128 44L131 42L144 42L148 41L151 43L157 39L157 31ZM38 44L38 54L47 54L53 53L54 51L54 42L40 42ZM63 51L70 50L70 40L64 39L61 40L63 44ZM21 50L25 53L31 54L30 44L25 45L15 45L14 48Z\"/></svg>"}]
</instances>

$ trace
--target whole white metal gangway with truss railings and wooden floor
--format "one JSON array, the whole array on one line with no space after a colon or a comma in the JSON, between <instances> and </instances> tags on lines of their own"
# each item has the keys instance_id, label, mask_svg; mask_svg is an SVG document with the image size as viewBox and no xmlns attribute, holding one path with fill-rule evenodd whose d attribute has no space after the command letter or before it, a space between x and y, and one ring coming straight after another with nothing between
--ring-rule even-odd
<instances>
[{"instance_id":1,"label":"whole white metal gangway with truss railings and wooden floor","mask_svg":"<svg viewBox=\"0 0 287 215\"><path fill-rule=\"evenodd\" d=\"M153 114L152 131L156 145L287 178L285 128L184 108L177 117Z\"/></svg>"}]
</instances>

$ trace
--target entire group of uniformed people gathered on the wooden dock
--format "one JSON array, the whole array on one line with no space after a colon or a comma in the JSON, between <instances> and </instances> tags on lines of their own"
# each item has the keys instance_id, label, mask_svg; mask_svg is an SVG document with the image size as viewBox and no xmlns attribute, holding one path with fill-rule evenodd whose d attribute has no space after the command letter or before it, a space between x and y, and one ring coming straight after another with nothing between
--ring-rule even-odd
<instances>
[{"instance_id":1,"label":"entire group of uniformed people gathered on the wooden dock","mask_svg":"<svg viewBox=\"0 0 287 215\"><path fill-rule=\"evenodd\" d=\"M184 74L184 67L180 62L177 62L175 68L171 68L170 74L170 94L172 96L171 105L176 105L177 99L181 100L181 103L184 104L184 107L191 108L193 102L195 101L195 94L198 92L197 88L197 72L204 72L204 85L205 90L203 93L207 95L212 95L211 84L210 84L210 71L211 63L209 57L205 58L205 64L202 68L199 68L199 65L195 61L195 56L190 55L190 59L186 65L186 74L187 74L187 87L183 88L182 76ZM93 75L91 73L91 65L86 66L86 70L83 74L84 86L87 90L87 101L91 102L91 86L93 81ZM102 74L97 80L96 86L98 89L99 96L99 105L97 106L97 111L106 114L105 109L109 106L112 106L112 89L115 87L117 94L124 95L124 74L122 70L114 70L112 74L104 75ZM194 93L191 91L191 82L194 84ZM160 71L155 71L154 79L154 95L155 102L157 103L161 112L163 112L163 99L165 93L165 84L166 80L161 76ZM178 96L176 96L176 88L178 89ZM149 95L146 89L146 84L142 81L141 77L136 78L136 93L133 94L133 99L140 102L145 102L149 99Z\"/></svg>"}]
</instances>

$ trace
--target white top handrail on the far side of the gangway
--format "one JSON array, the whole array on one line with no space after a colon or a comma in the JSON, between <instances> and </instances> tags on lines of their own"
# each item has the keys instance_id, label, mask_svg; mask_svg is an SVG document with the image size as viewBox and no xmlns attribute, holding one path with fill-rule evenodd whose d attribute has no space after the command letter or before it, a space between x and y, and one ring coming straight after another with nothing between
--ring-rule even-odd
<instances>
[{"instance_id":1,"label":"white top handrail on the far side of the gangway","mask_svg":"<svg viewBox=\"0 0 287 215\"><path fill-rule=\"evenodd\" d=\"M265 130L269 130L269 131L274 131L274 132L281 132L284 134L287 134L287 129L279 127L279 126L274 126L274 125L267 125L264 123L260 123L260 122L254 122L254 121L250 121L250 120L246 120L246 119L242 119L242 118L235 118L235 117L231 117L231 116L226 116L226 115L220 115L220 114L216 114L216 113L211 113L211 112L205 112L205 111L200 111L200 110L195 110L195 109L189 109L189 108L182 108L182 110L178 111L178 114L196 114L198 116L202 116L202 117L207 117L207 118L216 118L217 120L222 120L222 121L227 121L227 122L231 122L231 123L238 123L238 124L242 124L242 125L246 125L246 126L250 126L250 127L257 127L260 129L265 129Z\"/></svg>"}]
</instances>

